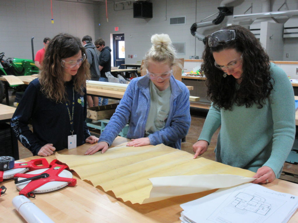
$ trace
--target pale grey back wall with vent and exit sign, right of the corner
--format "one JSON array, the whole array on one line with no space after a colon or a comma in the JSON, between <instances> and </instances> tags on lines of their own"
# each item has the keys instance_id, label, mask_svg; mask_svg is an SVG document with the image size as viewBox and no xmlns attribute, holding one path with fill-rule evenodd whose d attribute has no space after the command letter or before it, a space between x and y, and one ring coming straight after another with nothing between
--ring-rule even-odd
<instances>
[{"instance_id":1,"label":"pale grey back wall with vent and exit sign, right of the corner","mask_svg":"<svg viewBox=\"0 0 298 223\"><path fill-rule=\"evenodd\" d=\"M204 45L201 41L195 39L190 34L190 26L194 22L199 22L209 15L218 12L221 0L151 0L153 3L153 18L141 19L133 18L133 7L128 4L117 4L116 10L114 11L113 4L108 3L108 18L109 22L106 21L105 5L101 5L98 8L97 21L100 26L97 26L95 34L103 39L108 39L110 33L117 33L114 31L114 27L119 27L119 33L125 34L125 63L136 63L143 59L146 51L150 48L150 37L155 33L167 33L169 34L173 42L185 42L186 43L186 54L179 55L184 59L189 59L190 56L197 55L201 59ZM167 4L166 4L167 3ZM243 14L253 3L252 12L261 12L261 1L259 0L237 0L230 3L227 6L234 6L234 15ZM277 11L284 0L271 1L271 11ZM121 10L124 7L124 10ZM280 10L297 10L298 1L288 0L287 4ZM250 13L250 10L246 13ZM170 17L186 16L185 25L171 26ZM213 20L217 15L205 20ZM280 23L284 23L287 19L277 19ZM232 16L227 16L225 20L217 26L209 26L200 28L200 32L204 35L211 34L216 29L227 24L238 24L239 22L233 22ZM249 28L252 21L240 22L239 24ZM132 36L130 38L130 36ZM290 40L288 40L290 39ZM294 39L294 40L293 40ZM282 42L282 41L281 41ZM283 40L284 46L280 50L278 58L281 60L293 60L298 61L298 39L287 38ZM288 46L290 45L290 46ZM282 51L282 52L281 52ZM288 53L291 57L285 58L285 53ZM271 53L272 51L270 51ZM274 51L273 51L274 52ZM138 55L138 58L128 58L128 54ZM272 53L272 60L276 60L276 56Z\"/></svg>"}]
</instances>

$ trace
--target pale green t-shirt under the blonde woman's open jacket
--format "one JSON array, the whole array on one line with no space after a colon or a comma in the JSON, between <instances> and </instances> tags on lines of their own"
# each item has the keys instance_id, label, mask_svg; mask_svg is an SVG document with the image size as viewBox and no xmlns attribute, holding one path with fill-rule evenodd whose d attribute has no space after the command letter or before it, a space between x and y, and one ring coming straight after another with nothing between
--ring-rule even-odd
<instances>
[{"instance_id":1,"label":"pale green t-shirt under the blonde woman's open jacket","mask_svg":"<svg viewBox=\"0 0 298 223\"><path fill-rule=\"evenodd\" d=\"M145 137L164 128L170 112L171 85L160 91L150 80L150 109L146 122Z\"/></svg>"}]
</instances>

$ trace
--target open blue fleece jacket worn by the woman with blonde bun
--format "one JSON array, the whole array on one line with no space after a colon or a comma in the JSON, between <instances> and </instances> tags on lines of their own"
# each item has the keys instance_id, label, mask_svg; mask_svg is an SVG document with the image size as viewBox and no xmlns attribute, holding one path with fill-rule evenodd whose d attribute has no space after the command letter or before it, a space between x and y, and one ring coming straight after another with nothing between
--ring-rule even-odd
<instances>
[{"instance_id":1,"label":"open blue fleece jacket worn by the woman with blonde bun","mask_svg":"<svg viewBox=\"0 0 298 223\"><path fill-rule=\"evenodd\" d=\"M111 145L122 128L129 123L127 138L138 139L145 135L145 126L150 109L150 79L147 76L134 78L128 84L105 131L100 135L99 142ZM181 139L186 136L190 127L189 90L173 76L170 78L171 96L170 112L165 127L150 134L150 145L164 145L181 149Z\"/></svg>"}]
</instances>

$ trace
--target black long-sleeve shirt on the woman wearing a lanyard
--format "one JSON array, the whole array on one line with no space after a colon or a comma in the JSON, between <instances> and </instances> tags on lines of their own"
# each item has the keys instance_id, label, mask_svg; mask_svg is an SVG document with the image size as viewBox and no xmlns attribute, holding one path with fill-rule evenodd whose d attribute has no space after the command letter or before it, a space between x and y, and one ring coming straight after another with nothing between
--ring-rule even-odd
<instances>
[{"instance_id":1,"label":"black long-sleeve shirt on the woman wearing a lanyard","mask_svg":"<svg viewBox=\"0 0 298 223\"><path fill-rule=\"evenodd\" d=\"M72 113L73 82L65 82L69 110ZM27 87L21 102L18 104L11 127L18 140L37 155L42 146L52 143L56 151L68 147L68 136L71 135L69 114L66 103L56 103L41 92L38 78ZM77 146L83 145L90 136L85 119L87 115L86 89L84 95L75 92L74 135L77 135ZM32 119L33 132L28 123Z\"/></svg>"}]
</instances>

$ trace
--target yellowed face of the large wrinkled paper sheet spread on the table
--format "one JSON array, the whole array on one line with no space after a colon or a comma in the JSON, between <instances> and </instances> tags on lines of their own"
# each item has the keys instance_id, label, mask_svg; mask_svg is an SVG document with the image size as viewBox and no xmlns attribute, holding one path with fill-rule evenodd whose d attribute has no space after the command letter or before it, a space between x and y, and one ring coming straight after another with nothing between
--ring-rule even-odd
<instances>
[{"instance_id":1,"label":"yellowed face of the large wrinkled paper sheet spread on the table","mask_svg":"<svg viewBox=\"0 0 298 223\"><path fill-rule=\"evenodd\" d=\"M148 180L149 178L202 174L252 177L255 174L249 170L231 167L205 158L193 159L192 154L163 144L113 147L104 154L99 152L90 156L56 153L56 158L66 163L82 180L88 180L93 186L102 187L104 191L113 191L115 196L123 201L140 204L167 198L167 196L162 196L150 200L152 183ZM217 176L213 175L211 178L217 178ZM229 180L229 176L226 176L224 181ZM234 185L238 184L237 181ZM212 189L214 188L221 188L220 182L217 181ZM189 194L187 190L185 192ZM170 194L170 197L173 196Z\"/></svg>"}]
</instances>

